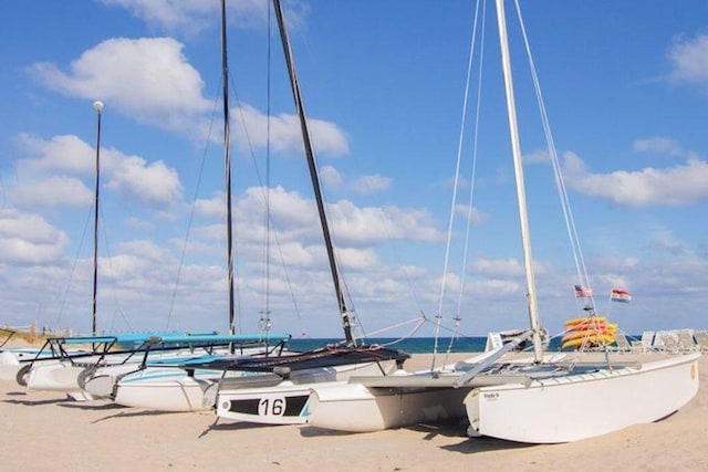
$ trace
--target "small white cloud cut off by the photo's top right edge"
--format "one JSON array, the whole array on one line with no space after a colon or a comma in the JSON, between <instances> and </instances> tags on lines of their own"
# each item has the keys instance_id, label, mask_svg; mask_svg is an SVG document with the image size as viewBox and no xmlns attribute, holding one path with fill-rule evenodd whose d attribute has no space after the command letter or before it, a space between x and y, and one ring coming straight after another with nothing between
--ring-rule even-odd
<instances>
[{"instance_id":1,"label":"small white cloud cut off by the photo's top right edge","mask_svg":"<svg viewBox=\"0 0 708 472\"><path fill-rule=\"evenodd\" d=\"M708 34L678 40L669 51L671 78L698 86L708 93Z\"/></svg>"}]
</instances>

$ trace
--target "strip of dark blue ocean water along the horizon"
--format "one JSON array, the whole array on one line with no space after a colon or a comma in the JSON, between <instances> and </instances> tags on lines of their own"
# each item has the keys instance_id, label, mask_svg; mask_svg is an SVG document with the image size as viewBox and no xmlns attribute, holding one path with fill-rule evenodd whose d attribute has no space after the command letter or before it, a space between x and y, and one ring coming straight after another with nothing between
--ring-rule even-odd
<instances>
[{"instance_id":1,"label":"strip of dark blue ocean water along the horizon","mask_svg":"<svg viewBox=\"0 0 708 472\"><path fill-rule=\"evenodd\" d=\"M399 349L408 354L425 354L435 350L435 338L433 337L409 337L399 342L396 338L374 337L366 339L366 344L379 344L392 349ZM551 339L549 350L559 350L558 338ZM292 350L310 350L324 347L330 344L342 342L342 338L293 338L288 346ZM446 353L448 347L450 353L481 353L485 350L487 336L457 337L452 339L450 346L449 337L438 338L438 353Z\"/></svg>"}]
</instances>

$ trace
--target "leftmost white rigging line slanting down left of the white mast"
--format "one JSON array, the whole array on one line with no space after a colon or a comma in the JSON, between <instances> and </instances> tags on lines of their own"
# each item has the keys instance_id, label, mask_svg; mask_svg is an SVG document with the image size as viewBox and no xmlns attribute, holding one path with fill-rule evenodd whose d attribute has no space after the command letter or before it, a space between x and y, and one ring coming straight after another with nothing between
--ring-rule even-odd
<instances>
[{"instance_id":1,"label":"leftmost white rigging line slanting down left of the white mast","mask_svg":"<svg viewBox=\"0 0 708 472\"><path fill-rule=\"evenodd\" d=\"M448 230L447 230L447 242L445 244L445 259L444 259L444 264L442 264L442 282L440 284L440 295L438 297L438 312L435 315L436 318L436 327L435 327L435 342L433 345L433 359L431 359L431 366L430 369L435 369L435 361L436 361L436 356L438 353L438 336L440 334L440 321L442 317L442 303L445 300L445 286L447 284L447 273L448 273L448 265L449 265L449 260L450 260L450 245L451 245L451 240L452 240L452 227L455 224L455 207L457 204L457 188L459 185L459 180L460 180L460 162L462 159L462 145L465 143L465 127L466 127L466 123L467 123L467 104L469 102L469 82L470 82L470 76L471 76L471 69L472 69L472 60L473 60L473 54L475 54L475 41L476 41L476 35L477 35L477 17L478 17L478 11L479 11L479 2L477 2L477 6L475 8L475 20L473 20L473 27L472 27L472 34L470 38L470 51L469 51L469 56L468 56L468 61L467 61L467 80L465 82L465 94L464 94L464 98L462 98L462 112L461 112L461 117L460 117L460 134L459 134L459 139L458 139L458 144L457 144L457 160L455 164L455 180L452 183L452 198L450 201L450 218L449 218L449 222L448 222Z\"/></svg>"}]
</instances>

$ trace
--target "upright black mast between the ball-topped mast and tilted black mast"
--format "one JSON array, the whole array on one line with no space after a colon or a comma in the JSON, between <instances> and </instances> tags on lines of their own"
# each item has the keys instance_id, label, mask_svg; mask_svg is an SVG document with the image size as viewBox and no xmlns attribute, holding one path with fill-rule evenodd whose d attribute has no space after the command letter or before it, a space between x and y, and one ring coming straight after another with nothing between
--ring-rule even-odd
<instances>
[{"instance_id":1,"label":"upright black mast between the ball-topped mast and tilted black mast","mask_svg":"<svg viewBox=\"0 0 708 472\"><path fill-rule=\"evenodd\" d=\"M231 228L231 133L229 127L229 62L226 41L226 0L221 0L221 71L223 83L223 165L226 176L226 252L228 271L229 333L236 334L233 324L233 234Z\"/></svg>"}]
</instances>

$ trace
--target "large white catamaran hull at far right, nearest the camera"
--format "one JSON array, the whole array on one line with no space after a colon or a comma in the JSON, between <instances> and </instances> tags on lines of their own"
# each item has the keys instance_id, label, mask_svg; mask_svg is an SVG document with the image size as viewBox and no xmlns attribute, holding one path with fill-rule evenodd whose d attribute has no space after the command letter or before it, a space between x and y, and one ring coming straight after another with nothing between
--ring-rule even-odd
<instances>
[{"instance_id":1,"label":"large white catamaran hull at far right, nearest the camera","mask_svg":"<svg viewBox=\"0 0 708 472\"><path fill-rule=\"evenodd\" d=\"M675 412L698 391L699 353L638 368L533 380L472 390L465 399L470 436L528 443L577 441L648 423Z\"/></svg>"}]
</instances>

